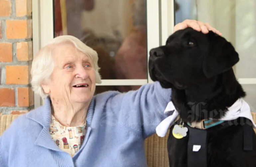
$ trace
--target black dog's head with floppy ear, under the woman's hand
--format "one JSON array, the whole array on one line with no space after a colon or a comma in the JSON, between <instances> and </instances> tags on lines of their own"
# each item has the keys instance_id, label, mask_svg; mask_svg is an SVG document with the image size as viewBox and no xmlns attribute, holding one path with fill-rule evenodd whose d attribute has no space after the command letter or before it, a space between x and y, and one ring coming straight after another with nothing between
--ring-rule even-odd
<instances>
[{"instance_id":1,"label":"black dog's head with floppy ear, under the woman's hand","mask_svg":"<svg viewBox=\"0 0 256 167\"><path fill-rule=\"evenodd\" d=\"M166 45L150 50L149 73L164 88L186 89L207 82L239 61L225 38L186 28L169 36Z\"/></svg>"}]
</instances>

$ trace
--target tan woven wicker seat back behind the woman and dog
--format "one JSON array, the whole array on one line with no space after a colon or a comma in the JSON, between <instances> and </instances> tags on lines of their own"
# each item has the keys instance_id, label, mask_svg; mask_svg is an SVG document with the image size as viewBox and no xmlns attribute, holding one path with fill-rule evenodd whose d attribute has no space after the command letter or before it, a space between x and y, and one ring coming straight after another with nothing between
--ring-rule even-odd
<instances>
[{"instance_id":1,"label":"tan woven wicker seat back behind the woman and dog","mask_svg":"<svg viewBox=\"0 0 256 167\"><path fill-rule=\"evenodd\" d=\"M11 122L19 115L2 115L0 116L0 136L10 126ZM256 113L252 113L253 120L256 122ZM254 129L256 133L256 129ZM145 152L148 167L169 167L167 138L158 137L156 134L145 140Z\"/></svg>"}]
</instances>

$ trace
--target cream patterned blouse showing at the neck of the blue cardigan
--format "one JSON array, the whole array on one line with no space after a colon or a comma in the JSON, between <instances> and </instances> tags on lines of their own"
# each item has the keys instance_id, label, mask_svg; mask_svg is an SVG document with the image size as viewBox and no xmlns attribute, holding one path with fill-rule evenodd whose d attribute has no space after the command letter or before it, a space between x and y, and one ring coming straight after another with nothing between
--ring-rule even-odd
<instances>
[{"instance_id":1,"label":"cream patterned blouse showing at the neck of the blue cardigan","mask_svg":"<svg viewBox=\"0 0 256 167\"><path fill-rule=\"evenodd\" d=\"M56 145L72 157L79 150L85 135L86 122L82 126L63 126L52 115L50 134Z\"/></svg>"}]
</instances>

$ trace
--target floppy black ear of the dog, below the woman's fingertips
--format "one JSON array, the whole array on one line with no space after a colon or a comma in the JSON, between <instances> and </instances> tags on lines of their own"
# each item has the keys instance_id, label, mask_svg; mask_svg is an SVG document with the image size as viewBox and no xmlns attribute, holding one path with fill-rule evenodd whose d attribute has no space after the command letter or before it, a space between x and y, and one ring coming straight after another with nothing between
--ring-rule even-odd
<instances>
[{"instance_id":1,"label":"floppy black ear of the dog, below the woman's fingertips","mask_svg":"<svg viewBox=\"0 0 256 167\"><path fill-rule=\"evenodd\" d=\"M225 38L210 31L208 34L210 46L205 55L202 69L207 78L211 78L232 68L239 61L238 53Z\"/></svg>"}]
</instances>

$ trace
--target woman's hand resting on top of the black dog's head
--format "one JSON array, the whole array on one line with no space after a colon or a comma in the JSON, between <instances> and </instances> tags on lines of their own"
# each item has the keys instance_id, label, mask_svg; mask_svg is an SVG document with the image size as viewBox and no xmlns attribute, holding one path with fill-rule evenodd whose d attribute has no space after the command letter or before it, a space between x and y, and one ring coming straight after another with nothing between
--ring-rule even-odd
<instances>
[{"instance_id":1,"label":"woman's hand resting on top of the black dog's head","mask_svg":"<svg viewBox=\"0 0 256 167\"><path fill-rule=\"evenodd\" d=\"M197 31L202 31L202 33L205 33L205 34L208 33L209 31L213 31L218 35L222 35L222 33L220 33L216 28L213 28L212 26L210 26L210 24L208 23L203 23L201 21L188 20L188 19L176 24L174 26L174 32L181 29L185 29L187 27L191 27Z\"/></svg>"}]
</instances>

